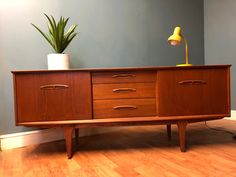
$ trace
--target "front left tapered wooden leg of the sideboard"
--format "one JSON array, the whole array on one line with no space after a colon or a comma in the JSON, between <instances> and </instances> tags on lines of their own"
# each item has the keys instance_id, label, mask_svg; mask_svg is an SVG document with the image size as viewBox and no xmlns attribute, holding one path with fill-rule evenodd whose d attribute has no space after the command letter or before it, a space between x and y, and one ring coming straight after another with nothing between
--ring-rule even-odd
<instances>
[{"instance_id":1,"label":"front left tapered wooden leg of the sideboard","mask_svg":"<svg viewBox=\"0 0 236 177\"><path fill-rule=\"evenodd\" d=\"M72 157L72 136L73 136L74 127L66 126L64 127L64 134L66 139L66 152L67 156L70 159Z\"/></svg>"}]
</instances>

